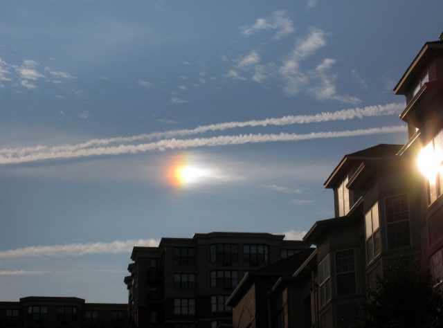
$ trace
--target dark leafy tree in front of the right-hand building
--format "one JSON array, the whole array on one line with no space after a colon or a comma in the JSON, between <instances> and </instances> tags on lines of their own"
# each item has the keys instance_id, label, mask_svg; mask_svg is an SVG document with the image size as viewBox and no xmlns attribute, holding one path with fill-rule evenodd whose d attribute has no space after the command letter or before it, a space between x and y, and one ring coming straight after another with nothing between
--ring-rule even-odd
<instances>
[{"instance_id":1,"label":"dark leafy tree in front of the right-hand building","mask_svg":"<svg viewBox=\"0 0 443 328\"><path fill-rule=\"evenodd\" d=\"M442 293L401 257L365 291L361 327L443 327Z\"/></svg>"}]
</instances>

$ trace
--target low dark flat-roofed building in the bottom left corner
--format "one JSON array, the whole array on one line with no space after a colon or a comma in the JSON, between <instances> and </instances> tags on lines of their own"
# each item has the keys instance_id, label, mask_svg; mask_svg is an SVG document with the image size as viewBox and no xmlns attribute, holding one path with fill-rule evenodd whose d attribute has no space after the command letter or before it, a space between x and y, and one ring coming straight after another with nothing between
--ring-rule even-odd
<instances>
[{"instance_id":1,"label":"low dark flat-roofed building in the bottom left corner","mask_svg":"<svg viewBox=\"0 0 443 328\"><path fill-rule=\"evenodd\" d=\"M127 304L29 296L19 302L0 302L0 327L127 328Z\"/></svg>"}]
</instances>

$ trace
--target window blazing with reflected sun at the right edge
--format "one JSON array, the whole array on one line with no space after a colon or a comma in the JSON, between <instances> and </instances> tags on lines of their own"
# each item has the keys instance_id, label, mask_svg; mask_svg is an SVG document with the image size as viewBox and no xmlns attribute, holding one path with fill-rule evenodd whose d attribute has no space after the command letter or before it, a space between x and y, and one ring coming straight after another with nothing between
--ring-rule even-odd
<instances>
[{"instance_id":1,"label":"window blazing with reflected sun at the right edge","mask_svg":"<svg viewBox=\"0 0 443 328\"><path fill-rule=\"evenodd\" d=\"M428 205L431 205L443 194L443 171L441 170L443 160L443 130L441 130L423 149L428 158L424 158L426 165L427 189L428 189Z\"/></svg>"}]
</instances>

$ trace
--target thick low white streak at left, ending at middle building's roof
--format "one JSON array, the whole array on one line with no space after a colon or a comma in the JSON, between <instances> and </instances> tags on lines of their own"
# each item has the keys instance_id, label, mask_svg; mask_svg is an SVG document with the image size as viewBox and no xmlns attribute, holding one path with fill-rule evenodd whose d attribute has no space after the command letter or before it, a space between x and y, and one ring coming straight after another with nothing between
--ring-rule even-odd
<instances>
[{"instance_id":1,"label":"thick low white streak at left, ending at middle building's roof","mask_svg":"<svg viewBox=\"0 0 443 328\"><path fill-rule=\"evenodd\" d=\"M29 246L14 250L1 250L1 258L17 257L66 257L88 254L130 253L134 246L158 246L158 239L116 240L110 243L65 244L51 246Z\"/></svg>"}]
</instances>

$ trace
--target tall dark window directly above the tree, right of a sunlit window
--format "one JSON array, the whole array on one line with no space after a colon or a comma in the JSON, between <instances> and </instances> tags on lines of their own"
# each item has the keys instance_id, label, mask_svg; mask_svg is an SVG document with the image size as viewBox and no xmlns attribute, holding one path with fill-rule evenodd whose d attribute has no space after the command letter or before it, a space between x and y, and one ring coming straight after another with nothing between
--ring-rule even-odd
<instances>
[{"instance_id":1,"label":"tall dark window directly above the tree, right of a sunlit window","mask_svg":"<svg viewBox=\"0 0 443 328\"><path fill-rule=\"evenodd\" d=\"M385 199L388 248L410 245L408 195L401 194Z\"/></svg>"}]
</instances>

